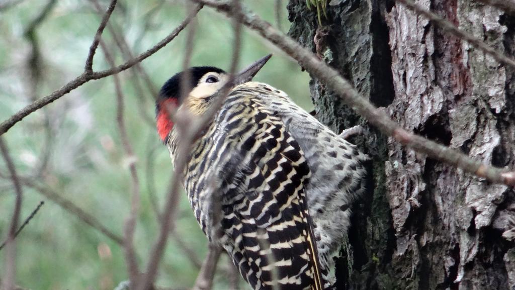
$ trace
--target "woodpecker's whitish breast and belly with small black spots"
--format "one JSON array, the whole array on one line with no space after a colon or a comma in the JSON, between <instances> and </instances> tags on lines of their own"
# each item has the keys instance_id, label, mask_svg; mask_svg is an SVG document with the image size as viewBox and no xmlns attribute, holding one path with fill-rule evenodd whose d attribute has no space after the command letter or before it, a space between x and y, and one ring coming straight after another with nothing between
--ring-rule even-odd
<instances>
[{"instance_id":1,"label":"woodpecker's whitish breast and belly with small black spots","mask_svg":"<svg viewBox=\"0 0 515 290\"><path fill-rule=\"evenodd\" d=\"M337 253L350 225L351 203L365 190L364 164L368 157L293 103L284 92L259 82L247 86L281 118L304 152L311 171L306 185L307 203L316 227L322 267L329 270L333 265L331 255ZM326 280L333 282L334 277Z\"/></svg>"}]
</instances>

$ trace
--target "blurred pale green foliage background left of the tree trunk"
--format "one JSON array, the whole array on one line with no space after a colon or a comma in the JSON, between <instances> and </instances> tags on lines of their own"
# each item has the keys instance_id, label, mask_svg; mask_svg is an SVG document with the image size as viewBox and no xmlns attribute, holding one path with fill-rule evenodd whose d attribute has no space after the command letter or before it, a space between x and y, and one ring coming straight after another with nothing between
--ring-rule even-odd
<instances>
[{"instance_id":1,"label":"blurred pale green foliage background left of the tree trunk","mask_svg":"<svg viewBox=\"0 0 515 290\"><path fill-rule=\"evenodd\" d=\"M9 1L9 0L7 0ZM100 16L89 1L0 0L0 119L6 120L33 100L61 88L83 71L89 46ZM286 32L286 2L279 14L274 0L243 1L247 7ZM103 10L109 4L99 1ZM119 1L110 23L119 31L133 55L155 45L182 22L182 1ZM229 69L232 57L231 22L209 8L197 18L192 65ZM144 60L141 72L119 74L125 95L125 121L136 155L141 206L135 235L140 268L156 241L156 207L164 203L171 167L168 151L157 135L151 91L158 91L181 71L185 52L183 31L158 53ZM108 29L103 38L120 64L127 57L119 52ZM309 76L296 62L247 29L243 31L240 67L274 53L255 80L288 93L311 111ZM93 68L108 69L100 48ZM150 84L150 86L149 86ZM44 206L16 238L16 283L31 289L113 289L128 274L122 247L112 238L85 224L71 208L63 208L42 195L53 193L91 214L112 233L123 236L131 200L128 160L116 124L113 78L90 81L26 117L3 135L18 174L39 185L24 186L21 221L45 201ZM5 240L12 215L14 191L0 161L0 243ZM62 203L62 202L61 202ZM20 221L20 223L21 223ZM192 287L207 252L207 239L200 231L183 194L177 214L177 238L170 238L162 259L157 285ZM5 250L0 251L4 272ZM227 288L223 274L229 262L219 263L218 289ZM241 283L241 288L248 287Z\"/></svg>"}]
</instances>

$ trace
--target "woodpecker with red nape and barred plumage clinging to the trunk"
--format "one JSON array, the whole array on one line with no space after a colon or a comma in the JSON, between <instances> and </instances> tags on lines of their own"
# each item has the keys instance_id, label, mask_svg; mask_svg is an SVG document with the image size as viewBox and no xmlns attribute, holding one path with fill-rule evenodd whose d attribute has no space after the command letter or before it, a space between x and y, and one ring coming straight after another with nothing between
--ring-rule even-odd
<instances>
[{"instance_id":1,"label":"woodpecker with red nape and barred plumage clinging to the trunk","mask_svg":"<svg viewBox=\"0 0 515 290\"><path fill-rule=\"evenodd\" d=\"M217 92L230 77L217 67L191 67L183 100L185 72L171 77L156 103L157 130L175 163L181 137L169 108L202 116L226 97L184 168L202 231L255 290L328 289L368 158L284 92L252 81L270 57L236 75L227 97Z\"/></svg>"}]
</instances>

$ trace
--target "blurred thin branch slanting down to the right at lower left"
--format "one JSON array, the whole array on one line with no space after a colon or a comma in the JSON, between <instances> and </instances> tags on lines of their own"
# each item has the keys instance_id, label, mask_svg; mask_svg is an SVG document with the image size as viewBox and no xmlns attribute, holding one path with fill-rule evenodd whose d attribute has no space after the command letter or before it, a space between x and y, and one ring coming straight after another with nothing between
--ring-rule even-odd
<instances>
[{"instance_id":1,"label":"blurred thin branch slanting down to the right at lower left","mask_svg":"<svg viewBox=\"0 0 515 290\"><path fill-rule=\"evenodd\" d=\"M30 178L23 178L22 182L23 182L23 184L37 190L41 195L43 195L46 198L57 203L57 205L60 206L63 210L67 211L68 213L71 213L72 215L77 216L85 224L87 224L90 227L94 228L95 230L101 232L106 237L110 238L113 242L115 242L116 244L118 244L120 246L124 245L124 240L121 236L110 231L108 228L106 228L104 225L102 225L95 216L85 212L84 210L82 210L81 208L76 206L76 204L73 203L71 200L64 198L61 194L54 192L53 190L49 189L47 186L39 185L38 183L34 182Z\"/></svg>"}]
</instances>

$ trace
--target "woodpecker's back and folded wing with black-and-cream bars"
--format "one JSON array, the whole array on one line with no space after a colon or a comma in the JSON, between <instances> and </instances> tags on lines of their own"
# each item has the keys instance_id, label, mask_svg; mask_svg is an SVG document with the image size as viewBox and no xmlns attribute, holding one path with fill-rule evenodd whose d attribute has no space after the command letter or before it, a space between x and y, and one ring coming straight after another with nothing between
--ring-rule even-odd
<instances>
[{"instance_id":1,"label":"woodpecker's back and folded wing with black-and-cream bars","mask_svg":"<svg viewBox=\"0 0 515 290\"><path fill-rule=\"evenodd\" d=\"M245 84L234 89L195 144L184 186L204 233L254 289L322 289L305 200L310 168L265 105Z\"/></svg>"}]
</instances>

